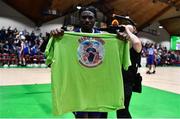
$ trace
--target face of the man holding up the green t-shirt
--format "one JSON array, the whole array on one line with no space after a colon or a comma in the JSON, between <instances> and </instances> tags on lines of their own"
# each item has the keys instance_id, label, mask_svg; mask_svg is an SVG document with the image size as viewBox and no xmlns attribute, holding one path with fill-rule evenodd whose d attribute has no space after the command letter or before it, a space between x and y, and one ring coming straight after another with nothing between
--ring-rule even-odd
<instances>
[{"instance_id":1,"label":"face of the man holding up the green t-shirt","mask_svg":"<svg viewBox=\"0 0 180 119\"><path fill-rule=\"evenodd\" d=\"M83 11L80 16L81 27L84 30L92 30L95 24L95 16L91 11Z\"/></svg>"}]
</instances>

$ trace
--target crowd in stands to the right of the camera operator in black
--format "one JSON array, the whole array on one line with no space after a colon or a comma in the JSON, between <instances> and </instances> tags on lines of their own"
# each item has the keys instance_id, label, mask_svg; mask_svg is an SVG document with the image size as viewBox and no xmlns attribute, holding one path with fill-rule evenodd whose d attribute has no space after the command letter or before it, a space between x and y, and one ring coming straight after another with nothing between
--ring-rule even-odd
<instances>
[{"instance_id":1,"label":"crowd in stands to the right of the camera operator in black","mask_svg":"<svg viewBox=\"0 0 180 119\"><path fill-rule=\"evenodd\" d=\"M165 46L161 44L144 43L142 50L142 57L148 56L148 49L153 48L156 66L172 66L180 65L180 51L167 50Z\"/></svg>"}]
</instances>

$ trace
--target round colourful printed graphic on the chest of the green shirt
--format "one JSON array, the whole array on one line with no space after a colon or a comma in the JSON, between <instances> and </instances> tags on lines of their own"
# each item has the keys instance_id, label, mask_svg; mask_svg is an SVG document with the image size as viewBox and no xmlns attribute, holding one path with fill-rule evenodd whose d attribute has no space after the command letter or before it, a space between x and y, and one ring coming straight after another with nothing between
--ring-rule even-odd
<instances>
[{"instance_id":1,"label":"round colourful printed graphic on the chest of the green shirt","mask_svg":"<svg viewBox=\"0 0 180 119\"><path fill-rule=\"evenodd\" d=\"M96 67L104 58L104 41L100 38L81 37L79 39L78 60L86 67Z\"/></svg>"}]
</instances>

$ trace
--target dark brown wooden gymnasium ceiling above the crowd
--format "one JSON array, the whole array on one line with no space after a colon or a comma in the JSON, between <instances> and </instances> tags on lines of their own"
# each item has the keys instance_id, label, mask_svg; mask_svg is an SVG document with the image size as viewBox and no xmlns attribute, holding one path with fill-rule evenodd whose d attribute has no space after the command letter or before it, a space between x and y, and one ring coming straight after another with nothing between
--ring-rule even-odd
<instances>
[{"instance_id":1,"label":"dark brown wooden gymnasium ceiling above the crowd","mask_svg":"<svg viewBox=\"0 0 180 119\"><path fill-rule=\"evenodd\" d=\"M42 25L72 13L77 5L93 5L108 18L113 13L128 15L138 30L158 21L169 34L180 35L180 0L3 0L35 24ZM45 15L48 9L58 15Z\"/></svg>"}]
</instances>

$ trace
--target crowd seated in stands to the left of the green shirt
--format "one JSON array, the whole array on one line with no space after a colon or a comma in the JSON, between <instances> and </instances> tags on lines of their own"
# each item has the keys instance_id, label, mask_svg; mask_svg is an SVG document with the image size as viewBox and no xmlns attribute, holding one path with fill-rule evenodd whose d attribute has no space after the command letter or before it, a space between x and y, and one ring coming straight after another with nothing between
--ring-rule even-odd
<instances>
[{"instance_id":1,"label":"crowd seated in stands to the left of the green shirt","mask_svg":"<svg viewBox=\"0 0 180 119\"><path fill-rule=\"evenodd\" d=\"M17 28L4 27L0 30L0 66L30 66L45 63L44 42L49 34L36 35L33 31L18 31Z\"/></svg>"}]
</instances>

